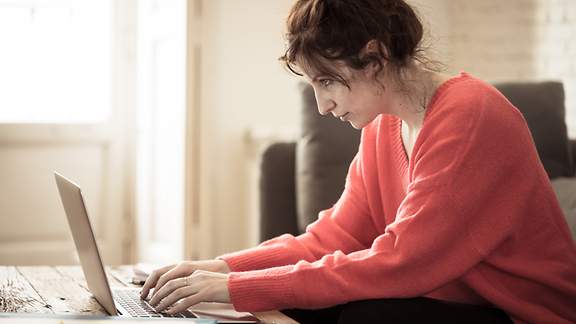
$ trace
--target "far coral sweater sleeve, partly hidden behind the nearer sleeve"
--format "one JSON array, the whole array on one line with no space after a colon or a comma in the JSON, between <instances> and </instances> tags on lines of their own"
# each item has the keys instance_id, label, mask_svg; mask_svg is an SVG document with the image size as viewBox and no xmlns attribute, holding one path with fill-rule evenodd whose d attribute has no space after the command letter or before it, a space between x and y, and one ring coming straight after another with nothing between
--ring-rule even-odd
<instances>
[{"instance_id":1,"label":"far coral sweater sleeve, partly hidden behind the nearer sleeve","mask_svg":"<svg viewBox=\"0 0 576 324\"><path fill-rule=\"evenodd\" d=\"M362 142L362 141L361 141ZM318 220L302 235L284 234L256 248L219 256L232 271L249 271L313 262L340 250L350 253L366 249L378 235L368 211L362 180L362 149L350 164L344 191L330 209L321 211ZM354 222L349 222L354 219ZM343 220L343 221L342 221Z\"/></svg>"}]
</instances>

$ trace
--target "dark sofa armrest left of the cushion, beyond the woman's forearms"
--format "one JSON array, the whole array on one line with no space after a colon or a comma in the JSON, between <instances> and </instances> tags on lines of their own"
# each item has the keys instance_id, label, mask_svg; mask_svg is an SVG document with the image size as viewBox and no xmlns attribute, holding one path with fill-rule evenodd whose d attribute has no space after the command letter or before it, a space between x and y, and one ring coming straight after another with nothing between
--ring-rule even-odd
<instances>
[{"instance_id":1,"label":"dark sofa armrest left of the cushion, beyond the woman's forearms","mask_svg":"<svg viewBox=\"0 0 576 324\"><path fill-rule=\"evenodd\" d=\"M273 143L260 164L260 241L298 234L295 185L296 143Z\"/></svg>"}]
</instances>

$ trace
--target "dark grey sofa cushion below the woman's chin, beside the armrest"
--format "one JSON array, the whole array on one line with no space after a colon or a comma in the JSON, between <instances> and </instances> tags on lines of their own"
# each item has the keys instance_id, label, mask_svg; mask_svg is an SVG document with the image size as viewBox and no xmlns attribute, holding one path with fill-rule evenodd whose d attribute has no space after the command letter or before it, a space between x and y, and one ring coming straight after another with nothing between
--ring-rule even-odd
<instances>
[{"instance_id":1,"label":"dark grey sofa cushion below the woman's chin, beside the armrest","mask_svg":"<svg viewBox=\"0 0 576 324\"><path fill-rule=\"evenodd\" d=\"M300 85L301 136L296 149L296 205L301 232L342 194L348 166L358 151L360 131L318 113L314 90Z\"/></svg>"}]
</instances>

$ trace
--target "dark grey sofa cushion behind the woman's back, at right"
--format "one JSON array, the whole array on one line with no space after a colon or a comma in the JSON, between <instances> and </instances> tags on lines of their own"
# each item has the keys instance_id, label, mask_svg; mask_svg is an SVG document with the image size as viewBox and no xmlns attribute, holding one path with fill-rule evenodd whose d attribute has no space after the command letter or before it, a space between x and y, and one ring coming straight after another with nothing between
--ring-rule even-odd
<instances>
[{"instance_id":1,"label":"dark grey sofa cushion behind the woman's back, at right","mask_svg":"<svg viewBox=\"0 0 576 324\"><path fill-rule=\"evenodd\" d=\"M564 121L564 89L560 82L497 83L524 115L550 179L574 174Z\"/></svg>"}]
</instances>

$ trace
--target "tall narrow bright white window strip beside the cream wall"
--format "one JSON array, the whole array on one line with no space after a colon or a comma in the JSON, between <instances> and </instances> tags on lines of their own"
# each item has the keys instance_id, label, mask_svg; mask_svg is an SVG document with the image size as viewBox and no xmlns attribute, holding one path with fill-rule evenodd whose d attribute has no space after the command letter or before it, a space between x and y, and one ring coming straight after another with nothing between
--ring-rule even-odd
<instances>
[{"instance_id":1,"label":"tall narrow bright white window strip beside the cream wall","mask_svg":"<svg viewBox=\"0 0 576 324\"><path fill-rule=\"evenodd\" d=\"M138 2L139 261L184 253L186 1Z\"/></svg>"}]
</instances>

